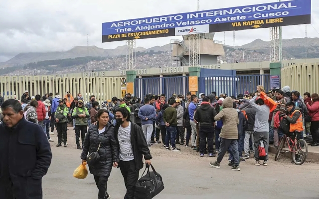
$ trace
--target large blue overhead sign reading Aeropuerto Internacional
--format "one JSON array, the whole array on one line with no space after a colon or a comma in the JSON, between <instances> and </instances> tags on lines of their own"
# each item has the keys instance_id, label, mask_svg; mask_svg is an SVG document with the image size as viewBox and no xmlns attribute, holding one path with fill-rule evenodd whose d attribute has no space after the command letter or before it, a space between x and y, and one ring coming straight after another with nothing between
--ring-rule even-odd
<instances>
[{"instance_id":1,"label":"large blue overhead sign reading Aeropuerto Internacional","mask_svg":"<svg viewBox=\"0 0 319 199\"><path fill-rule=\"evenodd\" d=\"M297 25L311 0L290 0L102 23L102 42Z\"/></svg>"}]
</instances>

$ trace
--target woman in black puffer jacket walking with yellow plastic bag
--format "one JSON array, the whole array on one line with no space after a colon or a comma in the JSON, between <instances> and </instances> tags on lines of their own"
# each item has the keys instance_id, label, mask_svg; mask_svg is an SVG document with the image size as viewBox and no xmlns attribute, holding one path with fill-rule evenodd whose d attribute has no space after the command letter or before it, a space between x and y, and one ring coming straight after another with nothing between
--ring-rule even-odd
<instances>
[{"instance_id":1,"label":"woman in black puffer jacket walking with yellow plastic bag","mask_svg":"<svg viewBox=\"0 0 319 199\"><path fill-rule=\"evenodd\" d=\"M83 151L81 154L82 163L86 162L86 157L99 148L100 159L89 165L90 173L93 174L97 188L99 189L99 199L109 199L107 193L107 182L111 174L113 163L120 162L119 145L115 138L115 127L109 121L109 111L102 108L97 113L97 124L91 124L85 134Z\"/></svg>"}]
</instances>

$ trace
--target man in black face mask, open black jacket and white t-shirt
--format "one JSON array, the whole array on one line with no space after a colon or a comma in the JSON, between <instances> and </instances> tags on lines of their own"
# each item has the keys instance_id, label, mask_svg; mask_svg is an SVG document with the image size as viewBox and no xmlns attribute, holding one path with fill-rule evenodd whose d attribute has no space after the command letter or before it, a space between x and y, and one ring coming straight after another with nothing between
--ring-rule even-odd
<instances>
[{"instance_id":1,"label":"man in black face mask, open black jacket and white t-shirt","mask_svg":"<svg viewBox=\"0 0 319 199\"><path fill-rule=\"evenodd\" d=\"M133 199L135 184L139 180L139 171L143 168L143 155L145 163L150 165L152 155L142 128L130 121L131 113L128 109L118 108L115 113L116 129L115 137L119 140L120 163L114 163L114 167L120 167L126 187L124 199Z\"/></svg>"}]
</instances>

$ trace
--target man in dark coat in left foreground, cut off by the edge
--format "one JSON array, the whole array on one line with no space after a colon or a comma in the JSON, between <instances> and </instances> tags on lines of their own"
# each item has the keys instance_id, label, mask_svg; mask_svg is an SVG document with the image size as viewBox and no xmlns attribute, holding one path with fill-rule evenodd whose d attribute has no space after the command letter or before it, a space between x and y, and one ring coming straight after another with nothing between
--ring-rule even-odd
<instances>
[{"instance_id":1,"label":"man in dark coat in left foreground, cut off by the edge","mask_svg":"<svg viewBox=\"0 0 319 199\"><path fill-rule=\"evenodd\" d=\"M42 177L52 159L43 128L24 119L21 104L1 106L0 199L42 199Z\"/></svg>"}]
</instances>

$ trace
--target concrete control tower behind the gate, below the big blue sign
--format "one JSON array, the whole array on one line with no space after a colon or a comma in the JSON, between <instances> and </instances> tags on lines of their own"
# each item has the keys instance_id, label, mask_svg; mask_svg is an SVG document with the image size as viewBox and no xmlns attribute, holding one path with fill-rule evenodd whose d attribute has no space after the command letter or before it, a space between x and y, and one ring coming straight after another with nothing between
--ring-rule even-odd
<instances>
[{"instance_id":1,"label":"concrete control tower behind the gate, below the big blue sign","mask_svg":"<svg viewBox=\"0 0 319 199\"><path fill-rule=\"evenodd\" d=\"M214 35L215 33L201 33L183 35L183 40L172 39L171 65L192 66L195 56L198 65L217 64L217 57L225 56L225 52L222 41L215 41Z\"/></svg>"}]
</instances>

